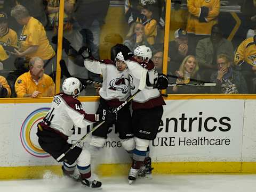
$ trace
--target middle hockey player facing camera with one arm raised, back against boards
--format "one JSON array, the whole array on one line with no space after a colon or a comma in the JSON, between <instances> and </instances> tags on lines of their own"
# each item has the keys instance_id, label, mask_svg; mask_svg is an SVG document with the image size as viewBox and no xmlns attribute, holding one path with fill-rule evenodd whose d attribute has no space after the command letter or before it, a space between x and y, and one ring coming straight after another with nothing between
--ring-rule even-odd
<instances>
[{"instance_id":1,"label":"middle hockey player facing camera with one arm raised, back against boards","mask_svg":"<svg viewBox=\"0 0 256 192\"><path fill-rule=\"evenodd\" d=\"M90 53L90 50L88 50ZM130 89L134 86L130 84L127 66L124 63L124 57L121 52L117 52L115 61L111 60L94 60L90 54L84 57L84 66L87 70L102 74L103 82L99 90L100 104L98 111L102 108L114 109L120 106L131 95ZM116 120L110 123L102 124L92 133L90 142L91 153L96 156L100 149L104 146L109 128L115 124L115 129L119 133L119 138L123 148L132 155L135 148L131 121L130 104L124 105L117 112Z\"/></svg>"}]
</instances>

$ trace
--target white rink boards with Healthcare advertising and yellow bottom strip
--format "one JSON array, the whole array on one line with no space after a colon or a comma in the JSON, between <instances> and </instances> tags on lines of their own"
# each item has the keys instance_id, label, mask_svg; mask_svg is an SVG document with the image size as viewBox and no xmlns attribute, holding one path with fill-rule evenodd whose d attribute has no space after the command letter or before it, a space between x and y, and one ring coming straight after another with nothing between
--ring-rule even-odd
<instances>
[{"instance_id":1,"label":"white rink boards with Healthcare advertising and yellow bottom strip","mask_svg":"<svg viewBox=\"0 0 256 192\"><path fill-rule=\"evenodd\" d=\"M79 98L87 113L95 113L99 97ZM0 179L61 175L56 162L39 146L36 124L52 98L1 99ZM169 95L157 138L150 143L154 174L256 173L256 96ZM74 128L70 143L91 128ZM85 139L88 145L90 136ZM102 176L125 175L130 158L113 126L93 169Z\"/></svg>"}]
</instances>

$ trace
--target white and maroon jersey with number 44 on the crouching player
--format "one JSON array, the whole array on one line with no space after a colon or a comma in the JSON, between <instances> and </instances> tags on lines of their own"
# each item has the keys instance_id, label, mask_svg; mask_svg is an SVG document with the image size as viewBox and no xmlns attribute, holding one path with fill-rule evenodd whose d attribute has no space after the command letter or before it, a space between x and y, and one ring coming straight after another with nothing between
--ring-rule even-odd
<instances>
[{"instance_id":1,"label":"white and maroon jersey with number 44 on the crouching player","mask_svg":"<svg viewBox=\"0 0 256 192\"><path fill-rule=\"evenodd\" d=\"M51 110L43 119L44 126L48 126L63 135L71 136L73 124L85 128L97 120L97 114L86 114L81 102L75 96L60 93L53 97Z\"/></svg>"}]
</instances>

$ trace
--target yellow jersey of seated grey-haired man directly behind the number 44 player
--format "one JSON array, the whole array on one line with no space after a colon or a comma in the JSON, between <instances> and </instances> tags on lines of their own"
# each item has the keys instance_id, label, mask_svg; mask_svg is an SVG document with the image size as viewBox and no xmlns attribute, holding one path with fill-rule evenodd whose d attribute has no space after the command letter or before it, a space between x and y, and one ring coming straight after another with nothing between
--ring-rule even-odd
<instances>
[{"instance_id":1,"label":"yellow jersey of seated grey-haired man directly behind the number 44 player","mask_svg":"<svg viewBox=\"0 0 256 192\"><path fill-rule=\"evenodd\" d=\"M53 97L55 84L50 76L44 74L36 82L32 79L30 72L23 73L15 82L17 97L24 97L25 94L33 94L35 90L41 92L37 97Z\"/></svg>"}]
</instances>

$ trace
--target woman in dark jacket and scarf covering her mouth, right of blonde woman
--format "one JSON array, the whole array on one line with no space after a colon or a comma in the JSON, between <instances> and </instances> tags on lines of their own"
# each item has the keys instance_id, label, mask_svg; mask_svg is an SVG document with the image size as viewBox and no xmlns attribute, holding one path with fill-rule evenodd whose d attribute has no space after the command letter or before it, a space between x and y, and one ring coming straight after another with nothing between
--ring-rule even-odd
<instances>
[{"instance_id":1,"label":"woman in dark jacket and scarf covering her mouth, right of blonde woman","mask_svg":"<svg viewBox=\"0 0 256 192\"><path fill-rule=\"evenodd\" d=\"M247 85L240 71L236 71L231 66L231 61L225 54L217 57L218 71L211 75L211 82L216 82L215 87L211 87L211 93L222 94L247 94Z\"/></svg>"}]
</instances>

